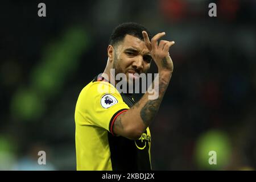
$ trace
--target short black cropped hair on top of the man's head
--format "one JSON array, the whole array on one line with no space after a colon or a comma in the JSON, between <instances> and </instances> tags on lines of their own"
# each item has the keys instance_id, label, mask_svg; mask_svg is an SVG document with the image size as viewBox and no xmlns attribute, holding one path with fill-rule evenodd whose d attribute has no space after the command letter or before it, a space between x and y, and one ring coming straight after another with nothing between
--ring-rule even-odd
<instances>
[{"instance_id":1,"label":"short black cropped hair on top of the man's head","mask_svg":"<svg viewBox=\"0 0 256 182\"><path fill-rule=\"evenodd\" d=\"M149 39L152 38L150 31L148 31L147 28L142 26L141 24L134 22L119 24L117 27L114 28L110 36L109 45L115 46L115 44L122 41L126 35L132 35L141 40L144 40L142 31L147 32Z\"/></svg>"}]
</instances>

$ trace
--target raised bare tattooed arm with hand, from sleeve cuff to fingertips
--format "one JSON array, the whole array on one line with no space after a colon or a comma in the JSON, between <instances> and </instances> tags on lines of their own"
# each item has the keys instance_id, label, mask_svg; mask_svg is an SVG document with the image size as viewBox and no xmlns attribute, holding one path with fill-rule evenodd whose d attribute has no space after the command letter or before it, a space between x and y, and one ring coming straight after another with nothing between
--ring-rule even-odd
<instances>
[{"instance_id":1,"label":"raised bare tattooed arm with hand, from sleeve cuff to fingertips","mask_svg":"<svg viewBox=\"0 0 256 182\"><path fill-rule=\"evenodd\" d=\"M174 42L161 40L158 45L157 40L165 35L164 32L156 34L154 38L151 39L151 42L145 31L143 31L142 34L144 42L158 66L159 77L155 79L159 79L159 85L158 89L154 88L154 92L158 92L158 98L149 100L150 93L146 92L141 100L133 107L125 113L118 115L114 122L113 131L116 135L121 135L129 139L138 139L141 137L142 133L155 118L173 72L173 63L169 55L169 48Z\"/></svg>"}]
</instances>

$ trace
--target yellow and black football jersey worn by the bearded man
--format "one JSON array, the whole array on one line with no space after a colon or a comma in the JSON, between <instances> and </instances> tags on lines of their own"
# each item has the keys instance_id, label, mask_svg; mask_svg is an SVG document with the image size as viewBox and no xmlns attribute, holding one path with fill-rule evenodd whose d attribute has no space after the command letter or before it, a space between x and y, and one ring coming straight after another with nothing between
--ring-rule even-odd
<instances>
[{"instance_id":1,"label":"yellow and black football jersey worn by the bearded man","mask_svg":"<svg viewBox=\"0 0 256 182\"><path fill-rule=\"evenodd\" d=\"M113 133L115 118L134 104L102 77L82 89L75 109L77 170L151 170L148 128L138 140Z\"/></svg>"}]
</instances>

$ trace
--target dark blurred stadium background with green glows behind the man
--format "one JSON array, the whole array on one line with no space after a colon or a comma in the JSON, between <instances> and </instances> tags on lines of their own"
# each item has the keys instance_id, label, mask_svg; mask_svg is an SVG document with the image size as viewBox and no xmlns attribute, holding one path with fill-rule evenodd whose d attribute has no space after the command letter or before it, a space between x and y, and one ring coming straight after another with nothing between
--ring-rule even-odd
<instances>
[{"instance_id":1,"label":"dark blurred stadium background with green glows behind the man","mask_svg":"<svg viewBox=\"0 0 256 182\"><path fill-rule=\"evenodd\" d=\"M217 17L208 16L210 2ZM104 71L122 22L176 43L151 125L152 168L256 168L255 1L1 1L0 19L0 169L76 169L76 100ZM46 166L37 164L40 150ZM211 150L217 165L208 163Z\"/></svg>"}]
</instances>

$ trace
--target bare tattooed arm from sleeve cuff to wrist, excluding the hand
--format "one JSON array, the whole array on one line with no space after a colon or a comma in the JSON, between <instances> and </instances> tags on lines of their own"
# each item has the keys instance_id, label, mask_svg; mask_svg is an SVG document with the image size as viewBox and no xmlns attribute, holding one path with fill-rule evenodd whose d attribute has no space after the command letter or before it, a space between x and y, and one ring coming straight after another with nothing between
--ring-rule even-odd
<instances>
[{"instance_id":1,"label":"bare tattooed arm from sleeve cuff to wrist, excluding the hand","mask_svg":"<svg viewBox=\"0 0 256 182\"><path fill-rule=\"evenodd\" d=\"M121 134L127 138L141 136L158 112L171 75L171 72L159 72L159 84L155 85L158 86L158 89L153 88L154 92L158 92L158 98L150 100L151 94L146 92L133 107L118 116L114 123L114 133Z\"/></svg>"}]
</instances>

